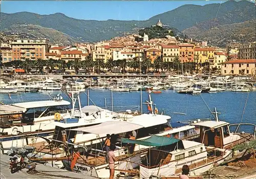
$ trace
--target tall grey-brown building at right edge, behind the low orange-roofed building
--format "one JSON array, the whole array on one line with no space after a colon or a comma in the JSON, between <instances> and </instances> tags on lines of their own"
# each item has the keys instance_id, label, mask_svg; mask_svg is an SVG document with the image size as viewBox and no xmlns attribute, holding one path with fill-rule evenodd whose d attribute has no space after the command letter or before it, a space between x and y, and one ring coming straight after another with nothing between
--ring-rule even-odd
<instances>
[{"instance_id":1,"label":"tall grey-brown building at right edge, behind the low orange-roofed building","mask_svg":"<svg viewBox=\"0 0 256 179\"><path fill-rule=\"evenodd\" d=\"M256 59L256 42L238 46L239 59Z\"/></svg>"}]
</instances>

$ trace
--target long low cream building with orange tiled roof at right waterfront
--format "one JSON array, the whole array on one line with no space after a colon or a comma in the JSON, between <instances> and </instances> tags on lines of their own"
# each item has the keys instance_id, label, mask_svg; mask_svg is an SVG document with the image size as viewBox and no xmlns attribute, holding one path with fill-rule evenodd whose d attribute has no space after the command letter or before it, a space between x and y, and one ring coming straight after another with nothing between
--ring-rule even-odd
<instances>
[{"instance_id":1,"label":"long low cream building with orange tiled roof at right waterfront","mask_svg":"<svg viewBox=\"0 0 256 179\"><path fill-rule=\"evenodd\" d=\"M222 63L222 74L240 74L240 75L255 75L256 60L243 59L232 60Z\"/></svg>"}]
</instances>

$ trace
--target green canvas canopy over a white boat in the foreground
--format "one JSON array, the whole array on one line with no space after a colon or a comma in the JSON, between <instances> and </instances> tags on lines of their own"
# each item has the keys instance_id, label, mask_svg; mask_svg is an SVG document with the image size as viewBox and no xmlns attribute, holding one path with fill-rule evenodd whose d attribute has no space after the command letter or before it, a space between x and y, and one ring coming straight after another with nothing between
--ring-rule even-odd
<instances>
[{"instance_id":1,"label":"green canvas canopy over a white boat in the foreground","mask_svg":"<svg viewBox=\"0 0 256 179\"><path fill-rule=\"evenodd\" d=\"M131 140L126 138L121 138L122 143L130 143L130 144L140 144L145 146L166 146L170 144L174 144L181 141L180 139L163 137L163 136L151 136L150 138L143 140Z\"/></svg>"}]
</instances>

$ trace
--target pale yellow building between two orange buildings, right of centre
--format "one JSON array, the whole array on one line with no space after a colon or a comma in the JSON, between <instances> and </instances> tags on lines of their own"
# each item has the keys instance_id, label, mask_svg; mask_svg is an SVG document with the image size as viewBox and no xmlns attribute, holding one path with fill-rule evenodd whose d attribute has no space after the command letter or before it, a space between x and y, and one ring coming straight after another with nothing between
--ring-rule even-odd
<instances>
[{"instance_id":1,"label":"pale yellow building between two orange buildings, right of centre","mask_svg":"<svg viewBox=\"0 0 256 179\"><path fill-rule=\"evenodd\" d=\"M179 45L162 45L162 59L164 62L173 62L179 57Z\"/></svg>"}]
</instances>

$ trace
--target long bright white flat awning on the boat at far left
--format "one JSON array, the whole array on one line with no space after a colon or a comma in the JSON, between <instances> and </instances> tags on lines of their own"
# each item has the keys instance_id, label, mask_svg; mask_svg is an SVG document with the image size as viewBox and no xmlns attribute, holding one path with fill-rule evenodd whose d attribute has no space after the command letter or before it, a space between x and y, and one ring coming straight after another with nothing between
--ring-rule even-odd
<instances>
[{"instance_id":1,"label":"long bright white flat awning on the boat at far left","mask_svg":"<svg viewBox=\"0 0 256 179\"><path fill-rule=\"evenodd\" d=\"M41 100L41 101L31 101L25 103L14 103L12 106L20 108L42 108L42 107L52 107L52 106L68 106L70 102L67 100Z\"/></svg>"}]
</instances>

